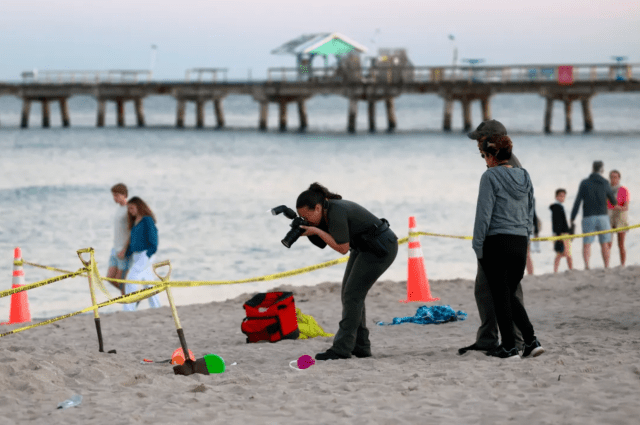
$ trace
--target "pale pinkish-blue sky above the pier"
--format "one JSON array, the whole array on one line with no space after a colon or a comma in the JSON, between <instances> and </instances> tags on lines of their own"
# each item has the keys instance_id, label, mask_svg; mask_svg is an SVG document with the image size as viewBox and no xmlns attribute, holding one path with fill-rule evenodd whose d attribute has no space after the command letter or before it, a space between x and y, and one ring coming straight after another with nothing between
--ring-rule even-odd
<instances>
[{"instance_id":1,"label":"pale pinkish-blue sky above the pier","mask_svg":"<svg viewBox=\"0 0 640 425\"><path fill-rule=\"evenodd\" d=\"M365 56L405 48L416 66L450 65L454 47L486 65L640 63L640 0L0 0L0 81L152 62L161 80L202 67L260 79L295 66L271 50L317 32L342 33Z\"/></svg>"}]
</instances>

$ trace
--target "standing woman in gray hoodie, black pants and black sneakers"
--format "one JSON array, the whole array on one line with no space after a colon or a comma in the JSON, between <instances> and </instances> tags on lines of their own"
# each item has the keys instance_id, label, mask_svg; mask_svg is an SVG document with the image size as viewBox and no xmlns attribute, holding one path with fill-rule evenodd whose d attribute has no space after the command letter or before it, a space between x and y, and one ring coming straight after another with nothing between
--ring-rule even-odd
<instances>
[{"instance_id":1,"label":"standing woman in gray hoodie, black pants and black sneakers","mask_svg":"<svg viewBox=\"0 0 640 425\"><path fill-rule=\"evenodd\" d=\"M502 337L502 344L487 355L519 359L513 323L522 332L523 357L539 356L544 349L514 295L527 263L534 201L529 173L507 164L512 147L508 136L489 136L482 143L488 169L480 179L472 246L487 276Z\"/></svg>"}]
</instances>

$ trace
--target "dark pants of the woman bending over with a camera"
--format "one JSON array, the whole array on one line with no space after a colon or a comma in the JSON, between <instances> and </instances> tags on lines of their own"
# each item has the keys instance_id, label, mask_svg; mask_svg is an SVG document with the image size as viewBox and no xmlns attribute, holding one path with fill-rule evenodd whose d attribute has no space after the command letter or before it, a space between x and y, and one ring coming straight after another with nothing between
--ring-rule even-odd
<instances>
[{"instance_id":1,"label":"dark pants of the woman bending over with a camera","mask_svg":"<svg viewBox=\"0 0 640 425\"><path fill-rule=\"evenodd\" d=\"M380 237L389 250L387 255L378 258L370 252L351 250L347 262L342 279L342 320L331 347L341 356L350 357L356 347L365 352L371 350L364 299L398 254L398 238L390 229Z\"/></svg>"}]
</instances>

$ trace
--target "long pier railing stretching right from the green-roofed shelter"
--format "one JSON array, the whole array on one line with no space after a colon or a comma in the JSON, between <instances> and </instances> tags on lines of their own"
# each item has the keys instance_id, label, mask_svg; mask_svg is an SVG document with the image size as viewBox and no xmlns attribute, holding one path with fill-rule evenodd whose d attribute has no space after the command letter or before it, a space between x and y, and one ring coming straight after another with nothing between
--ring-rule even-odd
<instances>
[{"instance_id":1,"label":"long pier railing stretching right from the green-roofed shelter","mask_svg":"<svg viewBox=\"0 0 640 425\"><path fill-rule=\"evenodd\" d=\"M640 79L640 64L517 65L447 67L269 68L272 81L362 81L371 83L455 81L469 83L629 81Z\"/></svg>"}]
</instances>

